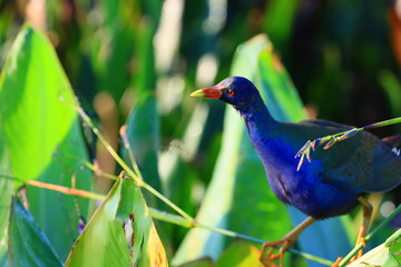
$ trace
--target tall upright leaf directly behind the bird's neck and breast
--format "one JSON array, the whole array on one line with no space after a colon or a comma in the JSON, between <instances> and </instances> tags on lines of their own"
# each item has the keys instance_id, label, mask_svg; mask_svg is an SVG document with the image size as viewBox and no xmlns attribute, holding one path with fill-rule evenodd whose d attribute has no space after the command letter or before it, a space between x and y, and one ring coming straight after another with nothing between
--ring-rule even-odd
<instances>
[{"instance_id":1,"label":"tall upright leaf directly behind the bird's neck and breast","mask_svg":"<svg viewBox=\"0 0 401 267\"><path fill-rule=\"evenodd\" d=\"M296 121L305 118L300 97L265 36L257 36L238 48L232 73L255 81L275 119ZM271 191L242 118L227 107L221 154L197 219L203 224L274 240L290 231L290 215L294 225L305 218L295 209L288 210ZM310 233L320 235L314 235L317 236L315 238ZM300 239L303 250L332 259L350 247L339 219L311 226ZM333 239L335 241L329 245L326 240ZM205 256L216 258L225 243L225 237L221 235L193 229L174 260L183 263ZM326 246L327 249L323 249Z\"/></svg>"}]
</instances>

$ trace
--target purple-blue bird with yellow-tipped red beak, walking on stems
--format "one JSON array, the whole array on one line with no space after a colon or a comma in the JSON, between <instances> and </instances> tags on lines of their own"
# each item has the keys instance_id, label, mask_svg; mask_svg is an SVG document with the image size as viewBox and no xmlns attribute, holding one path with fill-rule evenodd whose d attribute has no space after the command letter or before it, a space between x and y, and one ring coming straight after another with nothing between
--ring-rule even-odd
<instances>
[{"instance_id":1,"label":"purple-blue bird with yellow-tipped red beak, walking on stems","mask_svg":"<svg viewBox=\"0 0 401 267\"><path fill-rule=\"evenodd\" d=\"M255 85L239 76L228 77L190 96L219 99L239 112L271 189L282 202L307 215L282 239L263 244L260 259L264 266L276 266L275 260L283 266L285 250L306 227L316 220L349 214L359 205L363 208L363 222L356 245L364 245L372 214L365 196L401 184L401 157L397 149L401 136L381 140L369 131L322 119L277 121ZM346 134L322 139L338 132ZM319 146L325 141L329 141L325 149ZM309 162L304 162L305 158ZM281 248L275 251L277 246ZM361 256L362 250L358 257Z\"/></svg>"}]
</instances>

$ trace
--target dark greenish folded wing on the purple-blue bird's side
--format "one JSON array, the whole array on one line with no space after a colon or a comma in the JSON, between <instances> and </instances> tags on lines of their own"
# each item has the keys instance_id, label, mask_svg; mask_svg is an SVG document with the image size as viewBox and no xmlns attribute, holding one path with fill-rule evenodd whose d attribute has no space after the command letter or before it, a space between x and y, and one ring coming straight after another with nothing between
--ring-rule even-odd
<instances>
[{"instance_id":1,"label":"dark greenish folded wing on the purple-blue bird's side","mask_svg":"<svg viewBox=\"0 0 401 267\"><path fill-rule=\"evenodd\" d=\"M311 139L353 128L326 120L304 120L301 125L305 126ZM401 157L399 150L393 149L400 144L401 136L380 140L361 131L329 150L317 149L312 158L325 166L323 182L361 192L385 191L401 184Z\"/></svg>"}]
</instances>

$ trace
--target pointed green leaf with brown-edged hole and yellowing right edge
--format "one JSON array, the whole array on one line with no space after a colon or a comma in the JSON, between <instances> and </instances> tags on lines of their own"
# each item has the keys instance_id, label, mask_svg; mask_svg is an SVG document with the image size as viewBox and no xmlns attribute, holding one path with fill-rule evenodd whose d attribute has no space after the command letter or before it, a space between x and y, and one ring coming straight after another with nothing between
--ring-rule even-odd
<instances>
[{"instance_id":1,"label":"pointed green leaf with brown-edged hole and yellowing right edge","mask_svg":"<svg viewBox=\"0 0 401 267\"><path fill-rule=\"evenodd\" d=\"M67 266L167 266L139 188L118 179L67 258Z\"/></svg>"}]
</instances>

